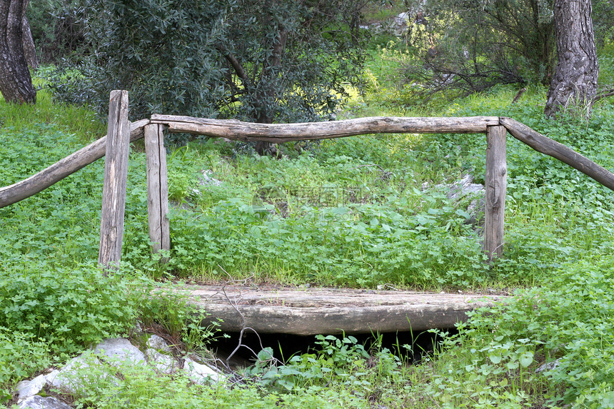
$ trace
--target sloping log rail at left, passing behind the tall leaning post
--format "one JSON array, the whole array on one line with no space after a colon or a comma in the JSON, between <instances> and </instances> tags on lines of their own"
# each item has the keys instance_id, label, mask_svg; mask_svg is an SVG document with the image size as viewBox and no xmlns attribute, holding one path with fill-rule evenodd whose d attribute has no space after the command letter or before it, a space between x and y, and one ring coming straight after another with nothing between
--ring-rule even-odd
<instances>
[{"instance_id":1,"label":"sloping log rail at left, passing behind the tall leaning post","mask_svg":"<svg viewBox=\"0 0 614 409\"><path fill-rule=\"evenodd\" d=\"M133 122L130 127L130 141L142 138L143 127L148 123L149 119ZM54 183L66 178L66 176L70 176L72 173L102 158L105 151L106 135L27 179L0 188L0 208L44 191L44 189L49 188Z\"/></svg>"}]
</instances>

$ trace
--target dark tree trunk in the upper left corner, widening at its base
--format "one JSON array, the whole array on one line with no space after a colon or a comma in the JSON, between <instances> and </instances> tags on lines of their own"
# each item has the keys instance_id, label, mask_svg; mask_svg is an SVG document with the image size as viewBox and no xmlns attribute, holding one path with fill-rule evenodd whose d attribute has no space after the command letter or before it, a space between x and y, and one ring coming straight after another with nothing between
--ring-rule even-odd
<instances>
[{"instance_id":1,"label":"dark tree trunk in the upper left corner, widening at its base","mask_svg":"<svg viewBox=\"0 0 614 409\"><path fill-rule=\"evenodd\" d=\"M24 55L28 1L0 1L0 92L7 102L36 103L36 89Z\"/></svg>"}]
</instances>

